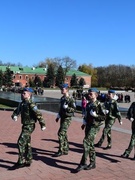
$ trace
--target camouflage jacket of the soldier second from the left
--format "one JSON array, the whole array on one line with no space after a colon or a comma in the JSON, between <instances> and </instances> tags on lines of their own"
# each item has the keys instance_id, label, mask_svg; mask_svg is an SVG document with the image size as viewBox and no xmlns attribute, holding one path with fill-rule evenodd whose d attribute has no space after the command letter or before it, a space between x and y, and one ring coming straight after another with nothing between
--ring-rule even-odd
<instances>
[{"instance_id":1,"label":"camouflage jacket of the soldier second from the left","mask_svg":"<svg viewBox=\"0 0 135 180\"><path fill-rule=\"evenodd\" d=\"M68 105L66 109L63 108L64 104ZM75 111L75 101L73 97L65 97L62 96L60 99L60 110L59 110L59 115L61 118L67 118L67 117L72 117L73 113Z\"/></svg>"}]
</instances>

